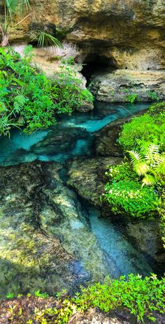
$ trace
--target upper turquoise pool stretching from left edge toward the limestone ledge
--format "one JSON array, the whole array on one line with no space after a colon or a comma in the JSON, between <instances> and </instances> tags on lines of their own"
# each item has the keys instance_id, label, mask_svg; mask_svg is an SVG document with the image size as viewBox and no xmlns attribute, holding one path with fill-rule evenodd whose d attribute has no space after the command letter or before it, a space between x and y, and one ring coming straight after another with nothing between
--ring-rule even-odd
<instances>
[{"instance_id":1,"label":"upper turquoise pool stretching from left edge toward the limestone ledge","mask_svg":"<svg viewBox=\"0 0 165 324\"><path fill-rule=\"evenodd\" d=\"M10 138L1 138L0 165L40 161L64 163L76 156L92 155L93 133L116 119L134 115L148 105L97 103L92 112L76 112L59 119L57 126L30 135L15 129Z\"/></svg>"}]
</instances>

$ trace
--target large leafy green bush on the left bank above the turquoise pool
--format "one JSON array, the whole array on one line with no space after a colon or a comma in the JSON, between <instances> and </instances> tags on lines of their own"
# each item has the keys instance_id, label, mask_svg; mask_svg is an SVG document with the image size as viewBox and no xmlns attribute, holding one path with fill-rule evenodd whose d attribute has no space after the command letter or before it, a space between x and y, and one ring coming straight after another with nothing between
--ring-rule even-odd
<instances>
[{"instance_id":1,"label":"large leafy green bush on the left bank above the turquoise pool","mask_svg":"<svg viewBox=\"0 0 165 324\"><path fill-rule=\"evenodd\" d=\"M65 77L65 78L64 78ZM80 89L80 81L69 68L57 80L48 80L11 48L0 49L0 134L24 126L35 131L56 124L55 114L71 113L83 101L92 101L89 91Z\"/></svg>"}]
</instances>

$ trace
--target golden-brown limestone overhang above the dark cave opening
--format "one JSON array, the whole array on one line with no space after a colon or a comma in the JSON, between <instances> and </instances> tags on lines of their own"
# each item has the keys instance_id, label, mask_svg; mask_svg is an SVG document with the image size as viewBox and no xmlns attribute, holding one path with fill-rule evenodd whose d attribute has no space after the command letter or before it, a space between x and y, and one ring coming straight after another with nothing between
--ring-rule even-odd
<instances>
[{"instance_id":1,"label":"golden-brown limestone overhang above the dark cave opening","mask_svg":"<svg viewBox=\"0 0 165 324\"><path fill-rule=\"evenodd\" d=\"M30 40L45 29L117 68L164 68L164 0L34 0L31 11L13 40Z\"/></svg>"}]
</instances>

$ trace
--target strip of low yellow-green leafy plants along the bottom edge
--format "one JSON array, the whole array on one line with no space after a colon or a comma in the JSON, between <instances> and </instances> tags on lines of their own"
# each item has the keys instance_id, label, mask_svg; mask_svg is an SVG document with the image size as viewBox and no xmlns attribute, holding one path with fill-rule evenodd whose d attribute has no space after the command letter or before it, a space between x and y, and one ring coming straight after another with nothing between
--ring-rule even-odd
<instances>
[{"instance_id":1,"label":"strip of low yellow-green leafy plants along the bottom edge","mask_svg":"<svg viewBox=\"0 0 165 324\"><path fill-rule=\"evenodd\" d=\"M125 276L120 279L107 277L102 284L81 287L81 292L72 299L63 296L56 307L34 309L34 316L27 323L68 323L73 314L87 311L90 307L97 307L103 312L124 307L136 316L138 323L144 323L146 317L155 321L155 312L164 314L165 311L164 283L164 278L157 279L155 274L145 279L134 274L129 274L128 279Z\"/></svg>"}]
</instances>

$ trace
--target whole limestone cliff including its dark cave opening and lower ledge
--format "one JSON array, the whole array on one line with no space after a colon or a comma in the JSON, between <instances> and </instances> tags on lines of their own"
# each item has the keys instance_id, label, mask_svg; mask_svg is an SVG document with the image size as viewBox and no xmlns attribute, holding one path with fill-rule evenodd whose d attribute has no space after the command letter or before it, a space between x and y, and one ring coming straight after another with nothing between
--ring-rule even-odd
<instances>
[{"instance_id":1,"label":"whole limestone cliff including its dark cave opening and lower ledge","mask_svg":"<svg viewBox=\"0 0 165 324\"><path fill-rule=\"evenodd\" d=\"M99 101L165 98L164 0L34 0L31 12L10 41L30 43L41 30L61 39L63 50L37 51L45 70L56 70L57 57L73 57L87 64L82 73Z\"/></svg>"}]
</instances>

